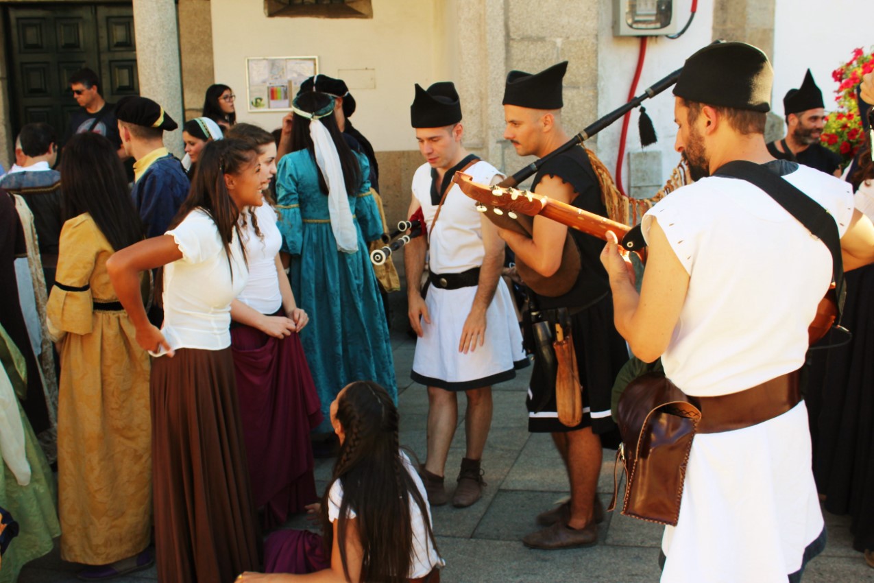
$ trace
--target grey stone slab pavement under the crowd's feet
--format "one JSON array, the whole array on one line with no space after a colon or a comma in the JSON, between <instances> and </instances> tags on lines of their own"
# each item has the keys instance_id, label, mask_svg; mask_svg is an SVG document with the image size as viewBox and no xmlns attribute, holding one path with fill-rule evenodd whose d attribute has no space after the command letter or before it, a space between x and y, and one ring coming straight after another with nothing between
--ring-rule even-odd
<instances>
[{"instance_id":1,"label":"grey stone slab pavement under the crowd's feet","mask_svg":"<svg viewBox=\"0 0 874 583\"><path fill-rule=\"evenodd\" d=\"M395 314L394 327L401 329L406 307L396 306ZM409 380L415 343L403 330L395 330L392 345L400 392L400 441L424 459L427 392ZM447 561L441 580L444 583L657 581L662 527L623 517L617 512L607 514L607 520L600 526L599 544L591 548L534 551L519 542L525 533L535 528L534 517L538 512L567 495L564 469L550 437L529 434L526 430L524 399L530 371L531 368L520 371L515 380L495 387L494 420L482 461L489 485L482 500L463 510L451 505L434 509L434 532ZM450 487L454 487L455 472L464 454L464 399L460 401L459 431L447 462ZM332 464L333 460L317 462L316 480L320 491L329 479ZM605 504L613 491L613 464L614 452L605 450L599 481ZM874 569L866 566L862 554L850 546L849 518L827 513L826 524L829 544L808 566L804 582L874 581ZM297 517L289 525L304 527L306 521ZM19 581L73 583L78 581L75 578L78 568L61 561L56 549L27 566ZM156 573L152 567L115 581L154 580Z\"/></svg>"}]
</instances>

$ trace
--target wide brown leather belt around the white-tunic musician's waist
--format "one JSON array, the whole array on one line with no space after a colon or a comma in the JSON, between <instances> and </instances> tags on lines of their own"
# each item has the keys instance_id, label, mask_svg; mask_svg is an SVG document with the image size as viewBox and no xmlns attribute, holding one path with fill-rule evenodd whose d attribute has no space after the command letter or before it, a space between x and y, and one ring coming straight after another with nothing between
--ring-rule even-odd
<instances>
[{"instance_id":1,"label":"wide brown leather belt around the white-tunic musician's waist","mask_svg":"<svg viewBox=\"0 0 874 583\"><path fill-rule=\"evenodd\" d=\"M794 371L746 391L718 397L688 397L701 411L696 433L718 434L753 427L786 413L801 401L801 392L798 371Z\"/></svg>"}]
</instances>

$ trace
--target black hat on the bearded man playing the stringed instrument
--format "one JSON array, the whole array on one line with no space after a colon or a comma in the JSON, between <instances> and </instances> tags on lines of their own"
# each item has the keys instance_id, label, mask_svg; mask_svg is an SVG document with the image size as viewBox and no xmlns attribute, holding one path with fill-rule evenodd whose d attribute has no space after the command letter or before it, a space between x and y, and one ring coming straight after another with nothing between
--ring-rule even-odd
<instances>
[{"instance_id":1,"label":"black hat on the bearded man playing the stringed instrument","mask_svg":"<svg viewBox=\"0 0 874 583\"><path fill-rule=\"evenodd\" d=\"M771 110L773 68L760 48L746 43L716 43L686 59L674 94L723 108Z\"/></svg>"}]
</instances>

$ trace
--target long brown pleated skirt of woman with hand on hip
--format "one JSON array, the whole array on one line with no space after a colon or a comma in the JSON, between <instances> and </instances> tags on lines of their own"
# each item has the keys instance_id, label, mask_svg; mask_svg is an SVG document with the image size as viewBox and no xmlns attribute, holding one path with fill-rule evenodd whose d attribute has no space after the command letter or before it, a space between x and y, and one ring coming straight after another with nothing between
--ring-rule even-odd
<instances>
[{"instance_id":1,"label":"long brown pleated skirt of woman with hand on hip","mask_svg":"<svg viewBox=\"0 0 874 583\"><path fill-rule=\"evenodd\" d=\"M230 583L260 566L231 349L154 359L158 580Z\"/></svg>"}]
</instances>

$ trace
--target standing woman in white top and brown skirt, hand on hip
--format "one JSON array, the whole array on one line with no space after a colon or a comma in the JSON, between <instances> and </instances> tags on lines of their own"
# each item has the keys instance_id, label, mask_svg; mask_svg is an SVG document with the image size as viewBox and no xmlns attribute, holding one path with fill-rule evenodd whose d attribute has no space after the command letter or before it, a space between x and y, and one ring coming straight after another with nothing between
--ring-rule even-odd
<instances>
[{"instance_id":1,"label":"standing woman in white top and brown skirt, hand on hip","mask_svg":"<svg viewBox=\"0 0 874 583\"><path fill-rule=\"evenodd\" d=\"M239 210L261 205L268 179L250 142L209 142L170 231L107 261L137 344L156 356L152 478L163 581L229 581L260 564L228 327L248 275ZM161 266L158 330L143 309L139 274Z\"/></svg>"}]
</instances>

